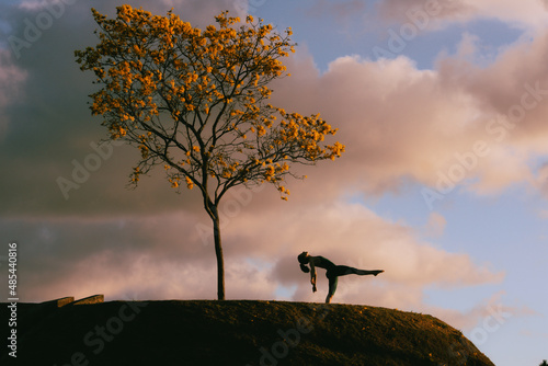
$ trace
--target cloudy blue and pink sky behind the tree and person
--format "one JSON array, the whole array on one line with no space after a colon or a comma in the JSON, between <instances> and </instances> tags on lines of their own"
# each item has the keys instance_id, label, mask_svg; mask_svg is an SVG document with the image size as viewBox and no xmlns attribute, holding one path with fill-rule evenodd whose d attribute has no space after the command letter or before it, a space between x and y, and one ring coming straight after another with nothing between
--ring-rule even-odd
<instances>
[{"instance_id":1,"label":"cloudy blue and pink sky behind the tree and person","mask_svg":"<svg viewBox=\"0 0 548 366\"><path fill-rule=\"evenodd\" d=\"M98 146L73 50L98 43L90 8L123 3L0 0L0 271L16 242L22 301L216 298L199 193L160 170L128 190L138 150ZM321 113L346 146L295 165L308 178L287 202L263 185L224 198L228 299L323 301L323 274L312 294L296 260L309 251L385 270L341 278L333 302L433 314L495 365L548 358L546 0L127 3L199 27L224 10L290 26L273 104Z\"/></svg>"}]
</instances>

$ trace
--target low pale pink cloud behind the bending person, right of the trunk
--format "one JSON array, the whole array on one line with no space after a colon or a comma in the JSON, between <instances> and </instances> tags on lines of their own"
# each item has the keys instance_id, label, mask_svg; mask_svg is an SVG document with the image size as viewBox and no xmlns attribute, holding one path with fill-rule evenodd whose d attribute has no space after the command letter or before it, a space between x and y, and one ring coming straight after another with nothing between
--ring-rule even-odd
<instances>
[{"instance_id":1,"label":"low pale pink cloud behind the bending person, right of the trunk","mask_svg":"<svg viewBox=\"0 0 548 366\"><path fill-rule=\"evenodd\" d=\"M249 240L262 238L261 247L254 250L246 248L247 255L256 251L256 255L271 261L277 256L271 278L286 287L297 286L294 300L322 300L320 295L311 294L309 275L300 272L297 265L296 255L301 251L324 255L335 264L386 271L377 277L341 278L335 296L335 301L341 302L385 306L388 302L388 306L397 306L398 301L400 307L410 307L419 304L426 286L473 286L499 283L504 276L488 266L475 264L466 254L447 253L421 242L411 228L386 221L357 204L318 205L276 215L275 225L271 228L259 224L263 219L271 221L270 214L256 219L251 217L251 213L242 216L233 227L230 226L228 238L232 237L232 232L242 231L247 231ZM246 237L238 238L237 245L246 245ZM321 296L327 291L323 275L323 271L319 270Z\"/></svg>"}]
</instances>

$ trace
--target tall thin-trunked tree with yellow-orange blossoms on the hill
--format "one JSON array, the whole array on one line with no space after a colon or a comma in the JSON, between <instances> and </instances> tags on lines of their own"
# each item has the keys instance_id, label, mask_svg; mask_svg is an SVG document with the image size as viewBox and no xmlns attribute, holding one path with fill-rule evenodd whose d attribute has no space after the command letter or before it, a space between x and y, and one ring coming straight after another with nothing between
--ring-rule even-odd
<instances>
[{"instance_id":1,"label":"tall thin-trunked tree with yellow-orange blossoms on the hill","mask_svg":"<svg viewBox=\"0 0 548 366\"><path fill-rule=\"evenodd\" d=\"M75 52L81 70L93 71L102 87L90 95L92 115L103 116L110 138L140 150L133 184L162 164L172 187L199 190L213 220L218 298L225 299L218 207L227 191L272 183L287 199L293 163L334 160L344 146L323 142L336 129L319 114L287 113L267 102L267 84L285 76L279 59L296 46L290 28L279 34L262 20L248 15L243 23L222 12L202 31L172 10L160 16L116 9L115 19L92 9L100 43Z\"/></svg>"}]
</instances>

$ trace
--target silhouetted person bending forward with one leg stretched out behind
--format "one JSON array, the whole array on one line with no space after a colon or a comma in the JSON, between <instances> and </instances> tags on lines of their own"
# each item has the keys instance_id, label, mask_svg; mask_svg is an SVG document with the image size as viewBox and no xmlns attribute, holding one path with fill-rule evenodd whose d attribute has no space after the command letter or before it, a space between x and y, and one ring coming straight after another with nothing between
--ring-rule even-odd
<instances>
[{"instance_id":1,"label":"silhouetted person bending forward with one leg stretched out behind","mask_svg":"<svg viewBox=\"0 0 548 366\"><path fill-rule=\"evenodd\" d=\"M357 270L354 267L350 267L347 265L335 265L333 262L331 262L330 260L328 260L324 256L321 256L321 255L312 256L312 255L309 255L308 252L300 253L297 256L297 259L300 263L300 270L305 273L310 272L310 283L312 284L312 293L317 291L317 288L316 288L316 267L327 270L326 277L328 277L328 279L329 279L329 291L328 291L328 296L326 297L326 304L329 304L331 301L331 298L333 297L333 295L335 295L336 285L339 283L340 276L345 276L349 274L356 274L358 276L364 276L364 275L376 276L379 273L385 272L383 270L366 271L366 270ZM308 268L307 264L310 265L310 268Z\"/></svg>"}]
</instances>

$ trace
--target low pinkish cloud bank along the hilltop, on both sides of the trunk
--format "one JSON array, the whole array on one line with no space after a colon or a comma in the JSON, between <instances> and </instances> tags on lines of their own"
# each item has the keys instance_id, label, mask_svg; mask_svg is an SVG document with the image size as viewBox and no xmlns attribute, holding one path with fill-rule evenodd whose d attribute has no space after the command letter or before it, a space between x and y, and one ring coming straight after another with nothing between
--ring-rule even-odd
<instances>
[{"instance_id":1,"label":"low pinkish cloud bank along the hilltop, on both sides of the trunk","mask_svg":"<svg viewBox=\"0 0 548 366\"><path fill-rule=\"evenodd\" d=\"M385 270L377 277L340 281L335 302L420 308L425 288L499 283L504 274L416 239L413 229L390 222L357 204L296 205L278 201L265 211L253 199L222 228L228 298L274 299L288 288L292 300L322 301L300 272L304 250L338 264ZM264 206L263 206L264 207ZM213 241L203 241L197 214L118 218L11 219L0 224L16 239L25 301L53 297L165 299L215 298ZM319 229L321 228L321 229ZM210 229L210 226L209 226Z\"/></svg>"}]
</instances>

